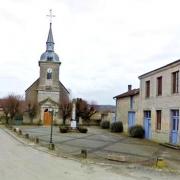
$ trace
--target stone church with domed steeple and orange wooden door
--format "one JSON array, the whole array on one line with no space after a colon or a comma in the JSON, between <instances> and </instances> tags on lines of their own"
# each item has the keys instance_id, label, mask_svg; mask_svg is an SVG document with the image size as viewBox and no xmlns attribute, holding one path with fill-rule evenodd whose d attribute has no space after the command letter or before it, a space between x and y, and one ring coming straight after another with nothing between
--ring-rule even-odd
<instances>
[{"instance_id":1,"label":"stone church with domed steeple and orange wooden door","mask_svg":"<svg viewBox=\"0 0 180 180\"><path fill-rule=\"evenodd\" d=\"M60 123L62 119L60 104L64 99L69 99L68 90L59 80L61 62L54 51L54 45L52 22L50 22L46 51L39 60L40 76L25 91L28 105L36 106L36 116L33 118L33 123L40 122L43 125L50 125L52 118L54 123ZM28 122L28 120L26 121Z\"/></svg>"}]
</instances>

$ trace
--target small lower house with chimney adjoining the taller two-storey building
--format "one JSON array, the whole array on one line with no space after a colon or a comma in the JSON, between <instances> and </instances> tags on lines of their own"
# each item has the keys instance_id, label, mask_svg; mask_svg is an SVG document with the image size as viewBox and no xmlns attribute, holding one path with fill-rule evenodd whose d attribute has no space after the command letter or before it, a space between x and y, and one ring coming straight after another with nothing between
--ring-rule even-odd
<instances>
[{"instance_id":1,"label":"small lower house with chimney adjoining the taller two-storey building","mask_svg":"<svg viewBox=\"0 0 180 180\"><path fill-rule=\"evenodd\" d=\"M116 121L122 121L125 132L137 123L139 89L132 89L128 85L128 91L114 97L116 100Z\"/></svg>"}]
</instances>

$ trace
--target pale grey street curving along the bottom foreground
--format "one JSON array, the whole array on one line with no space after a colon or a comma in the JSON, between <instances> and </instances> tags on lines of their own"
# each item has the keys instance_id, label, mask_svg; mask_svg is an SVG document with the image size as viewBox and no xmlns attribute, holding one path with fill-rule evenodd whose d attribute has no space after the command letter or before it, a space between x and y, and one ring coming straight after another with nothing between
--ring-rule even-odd
<instances>
[{"instance_id":1,"label":"pale grey street curving along the bottom foreground","mask_svg":"<svg viewBox=\"0 0 180 180\"><path fill-rule=\"evenodd\" d=\"M0 179L179 179L177 172L134 164L91 163L52 155L18 141L7 129L0 129Z\"/></svg>"}]
</instances>

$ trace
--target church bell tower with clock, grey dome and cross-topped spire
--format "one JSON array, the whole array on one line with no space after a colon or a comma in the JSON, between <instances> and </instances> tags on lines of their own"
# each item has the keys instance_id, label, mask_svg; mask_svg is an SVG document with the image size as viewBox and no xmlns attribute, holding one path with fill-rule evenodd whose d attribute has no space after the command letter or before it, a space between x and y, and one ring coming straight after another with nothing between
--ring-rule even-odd
<instances>
[{"instance_id":1,"label":"church bell tower with clock, grey dome and cross-topped spire","mask_svg":"<svg viewBox=\"0 0 180 180\"><path fill-rule=\"evenodd\" d=\"M52 18L52 13L50 15ZM52 34L52 22L50 21L46 51L41 55L40 78L38 86L38 102L47 98L59 103L59 67L61 62L59 56L54 52L54 40Z\"/></svg>"}]
</instances>

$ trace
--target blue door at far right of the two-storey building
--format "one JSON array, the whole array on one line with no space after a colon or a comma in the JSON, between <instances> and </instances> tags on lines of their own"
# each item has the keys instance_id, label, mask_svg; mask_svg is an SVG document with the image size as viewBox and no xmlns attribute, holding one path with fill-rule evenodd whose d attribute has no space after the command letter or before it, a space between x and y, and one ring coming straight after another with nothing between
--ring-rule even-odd
<instances>
[{"instance_id":1,"label":"blue door at far right of the two-storey building","mask_svg":"<svg viewBox=\"0 0 180 180\"><path fill-rule=\"evenodd\" d=\"M178 143L178 129L179 129L179 110L171 111L171 143Z\"/></svg>"}]
</instances>

